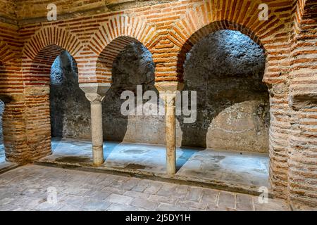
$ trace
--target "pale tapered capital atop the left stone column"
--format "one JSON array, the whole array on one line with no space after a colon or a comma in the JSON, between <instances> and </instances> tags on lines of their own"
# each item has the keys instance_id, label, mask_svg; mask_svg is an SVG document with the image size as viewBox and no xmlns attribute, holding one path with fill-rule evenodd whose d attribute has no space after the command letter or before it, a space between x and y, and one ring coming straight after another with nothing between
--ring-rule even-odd
<instances>
[{"instance_id":1,"label":"pale tapered capital atop the left stone column","mask_svg":"<svg viewBox=\"0 0 317 225\"><path fill-rule=\"evenodd\" d=\"M85 92L86 98L91 103L101 103L104 100L104 96L108 89L110 89L111 84L102 83L86 83L79 84L80 89Z\"/></svg>"}]
</instances>

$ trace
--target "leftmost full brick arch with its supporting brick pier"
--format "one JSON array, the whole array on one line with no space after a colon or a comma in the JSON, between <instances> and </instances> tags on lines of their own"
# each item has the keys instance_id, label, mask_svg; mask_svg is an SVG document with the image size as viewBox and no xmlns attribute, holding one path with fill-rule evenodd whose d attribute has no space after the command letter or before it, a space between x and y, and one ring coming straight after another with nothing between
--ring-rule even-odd
<instances>
[{"instance_id":1,"label":"leftmost full brick arch with its supporting brick pier","mask_svg":"<svg viewBox=\"0 0 317 225\"><path fill-rule=\"evenodd\" d=\"M58 27L42 28L25 44L22 64L29 161L51 153L51 65L62 51L68 51L75 58L80 48L80 41L73 34Z\"/></svg>"}]
</instances>

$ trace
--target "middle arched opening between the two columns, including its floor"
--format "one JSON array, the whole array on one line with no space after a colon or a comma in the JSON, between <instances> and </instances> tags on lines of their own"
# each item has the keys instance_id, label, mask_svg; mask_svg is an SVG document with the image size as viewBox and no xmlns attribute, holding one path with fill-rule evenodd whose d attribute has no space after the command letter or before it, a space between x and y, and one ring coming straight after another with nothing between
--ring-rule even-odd
<instances>
[{"instance_id":1,"label":"middle arched opening between the two columns, including its floor","mask_svg":"<svg viewBox=\"0 0 317 225\"><path fill-rule=\"evenodd\" d=\"M108 66L103 66L106 67ZM163 143L164 134L160 131L165 129L164 117L147 114L144 105L137 103L137 98L142 99L147 91L153 91L159 96L154 86L154 71L151 52L136 39L131 39L129 44L120 49L116 58L113 58L111 88L102 103L104 140L107 141L104 155L107 165L145 169L151 165L149 158L155 150L144 144ZM124 91L129 91L135 96L132 100L134 104L129 107L134 113L129 115L121 112L123 103L130 99L123 98ZM148 101L149 99L143 99L142 103ZM151 107L158 106L159 98ZM140 108L143 108L142 115L137 113ZM163 158L163 153L161 156Z\"/></svg>"}]
</instances>

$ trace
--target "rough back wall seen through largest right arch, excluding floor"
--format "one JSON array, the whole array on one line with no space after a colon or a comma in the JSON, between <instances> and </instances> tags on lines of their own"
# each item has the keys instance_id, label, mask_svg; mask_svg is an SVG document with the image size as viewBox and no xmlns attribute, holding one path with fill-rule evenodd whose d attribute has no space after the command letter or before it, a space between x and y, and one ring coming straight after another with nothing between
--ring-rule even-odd
<instances>
[{"instance_id":1,"label":"rough back wall seen through largest right arch, excluding floor","mask_svg":"<svg viewBox=\"0 0 317 225\"><path fill-rule=\"evenodd\" d=\"M184 65L184 91L197 91L197 121L182 123L181 146L268 153L263 49L238 31L201 39Z\"/></svg>"}]
</instances>

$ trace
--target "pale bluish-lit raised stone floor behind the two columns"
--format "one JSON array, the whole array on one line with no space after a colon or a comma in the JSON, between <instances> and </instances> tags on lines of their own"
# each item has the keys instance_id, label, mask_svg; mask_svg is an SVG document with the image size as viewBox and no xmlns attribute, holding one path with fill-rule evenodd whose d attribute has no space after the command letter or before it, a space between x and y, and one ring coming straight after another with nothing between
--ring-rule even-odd
<instances>
[{"instance_id":1,"label":"pale bluish-lit raised stone floor behind the two columns","mask_svg":"<svg viewBox=\"0 0 317 225\"><path fill-rule=\"evenodd\" d=\"M53 155L42 162L91 163L89 141L52 140ZM166 173L165 146L136 143L104 143L105 163L101 167ZM268 185L268 155L216 150L177 149L176 176L224 181L244 186Z\"/></svg>"}]
</instances>

